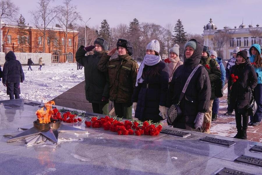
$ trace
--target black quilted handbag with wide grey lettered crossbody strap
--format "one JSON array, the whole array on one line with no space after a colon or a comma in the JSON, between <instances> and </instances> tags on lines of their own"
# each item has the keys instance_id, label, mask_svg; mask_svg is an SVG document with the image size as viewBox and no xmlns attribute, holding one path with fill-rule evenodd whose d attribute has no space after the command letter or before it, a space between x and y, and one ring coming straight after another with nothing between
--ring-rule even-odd
<instances>
[{"instance_id":1,"label":"black quilted handbag with wide grey lettered crossbody strap","mask_svg":"<svg viewBox=\"0 0 262 175\"><path fill-rule=\"evenodd\" d=\"M179 97L179 101L178 104L172 104L170 106L170 108L167 110L167 124L168 125L173 125L180 117L182 117L182 110L179 107L180 101L183 99L184 95L185 95L185 91L188 87L188 84L192 78L192 76L196 73L197 69L201 66L201 64L199 64L197 67L195 67L195 69L191 72L191 74L189 75L189 77L187 78L187 81L184 85L184 88L180 94Z\"/></svg>"}]
</instances>

